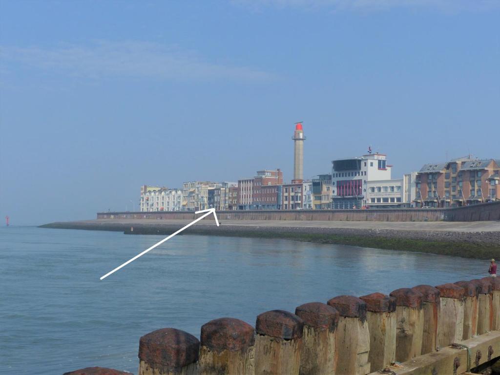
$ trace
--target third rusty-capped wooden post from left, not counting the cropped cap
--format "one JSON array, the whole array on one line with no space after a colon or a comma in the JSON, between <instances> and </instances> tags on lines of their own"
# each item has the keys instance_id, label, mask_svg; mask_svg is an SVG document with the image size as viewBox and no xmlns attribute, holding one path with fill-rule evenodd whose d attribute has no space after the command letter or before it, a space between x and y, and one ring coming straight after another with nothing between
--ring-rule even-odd
<instances>
[{"instance_id":1,"label":"third rusty-capped wooden post from left, not counting the cropped cap","mask_svg":"<svg viewBox=\"0 0 500 375\"><path fill-rule=\"evenodd\" d=\"M302 319L284 310L263 312L257 316L255 331L255 374L297 375Z\"/></svg>"}]
</instances>

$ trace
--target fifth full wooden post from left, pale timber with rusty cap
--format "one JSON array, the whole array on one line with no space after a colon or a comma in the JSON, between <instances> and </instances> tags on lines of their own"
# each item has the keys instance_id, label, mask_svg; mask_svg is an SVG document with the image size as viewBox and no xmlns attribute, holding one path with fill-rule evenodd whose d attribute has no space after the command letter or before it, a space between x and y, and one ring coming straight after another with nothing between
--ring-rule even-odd
<instances>
[{"instance_id":1,"label":"fifth full wooden post from left, pale timber with rusty cap","mask_svg":"<svg viewBox=\"0 0 500 375\"><path fill-rule=\"evenodd\" d=\"M370 372L370 338L366 322L366 302L353 295L328 300L340 314L336 333L338 353L336 375L364 375Z\"/></svg>"}]
</instances>

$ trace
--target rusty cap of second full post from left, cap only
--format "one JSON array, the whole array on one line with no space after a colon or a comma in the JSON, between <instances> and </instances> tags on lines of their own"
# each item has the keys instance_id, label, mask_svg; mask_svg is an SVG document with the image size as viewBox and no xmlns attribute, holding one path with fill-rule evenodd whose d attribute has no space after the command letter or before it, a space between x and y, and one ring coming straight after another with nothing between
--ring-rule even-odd
<instances>
[{"instance_id":1,"label":"rusty cap of second full post from left, cap only","mask_svg":"<svg viewBox=\"0 0 500 375\"><path fill-rule=\"evenodd\" d=\"M244 351L255 341L255 330L232 317L213 319L201 326L200 343L211 351Z\"/></svg>"}]
</instances>

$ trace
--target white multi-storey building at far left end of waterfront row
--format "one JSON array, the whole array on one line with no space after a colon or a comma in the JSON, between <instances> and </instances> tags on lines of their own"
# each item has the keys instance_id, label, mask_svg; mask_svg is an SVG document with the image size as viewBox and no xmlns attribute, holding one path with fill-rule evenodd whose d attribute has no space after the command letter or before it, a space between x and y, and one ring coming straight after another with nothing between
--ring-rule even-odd
<instances>
[{"instance_id":1,"label":"white multi-storey building at far left end of waterfront row","mask_svg":"<svg viewBox=\"0 0 500 375\"><path fill-rule=\"evenodd\" d=\"M180 211L182 190L143 185L140 188L140 211Z\"/></svg>"}]
</instances>

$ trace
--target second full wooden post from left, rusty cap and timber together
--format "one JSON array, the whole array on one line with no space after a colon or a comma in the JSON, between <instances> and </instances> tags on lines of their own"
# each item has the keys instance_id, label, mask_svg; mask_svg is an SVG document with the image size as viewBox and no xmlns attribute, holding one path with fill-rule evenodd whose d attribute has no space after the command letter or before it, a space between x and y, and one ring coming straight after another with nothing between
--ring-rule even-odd
<instances>
[{"instance_id":1,"label":"second full wooden post from left, rusty cap and timber together","mask_svg":"<svg viewBox=\"0 0 500 375\"><path fill-rule=\"evenodd\" d=\"M255 330L239 319L223 317L201 326L200 375L253 375Z\"/></svg>"}]
</instances>

